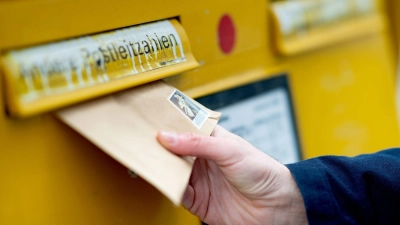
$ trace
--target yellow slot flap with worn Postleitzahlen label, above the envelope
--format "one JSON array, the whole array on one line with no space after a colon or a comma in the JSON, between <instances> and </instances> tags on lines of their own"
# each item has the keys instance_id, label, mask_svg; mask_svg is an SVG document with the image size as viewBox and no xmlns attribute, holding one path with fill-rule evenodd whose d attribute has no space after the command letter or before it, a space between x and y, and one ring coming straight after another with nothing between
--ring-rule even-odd
<instances>
[{"instance_id":1,"label":"yellow slot flap with worn Postleitzahlen label, above the envelope","mask_svg":"<svg viewBox=\"0 0 400 225\"><path fill-rule=\"evenodd\" d=\"M2 56L7 109L27 117L198 66L175 19L132 26Z\"/></svg>"}]
</instances>

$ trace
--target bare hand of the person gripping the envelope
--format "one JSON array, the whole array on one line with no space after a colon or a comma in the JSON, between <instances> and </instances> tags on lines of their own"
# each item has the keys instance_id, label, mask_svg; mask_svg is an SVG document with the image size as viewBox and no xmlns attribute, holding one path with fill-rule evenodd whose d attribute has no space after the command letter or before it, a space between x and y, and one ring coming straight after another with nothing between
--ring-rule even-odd
<instances>
[{"instance_id":1,"label":"bare hand of the person gripping the envelope","mask_svg":"<svg viewBox=\"0 0 400 225\"><path fill-rule=\"evenodd\" d=\"M197 157L182 205L208 224L308 224L289 169L217 126L211 136L159 132L180 156Z\"/></svg>"}]
</instances>

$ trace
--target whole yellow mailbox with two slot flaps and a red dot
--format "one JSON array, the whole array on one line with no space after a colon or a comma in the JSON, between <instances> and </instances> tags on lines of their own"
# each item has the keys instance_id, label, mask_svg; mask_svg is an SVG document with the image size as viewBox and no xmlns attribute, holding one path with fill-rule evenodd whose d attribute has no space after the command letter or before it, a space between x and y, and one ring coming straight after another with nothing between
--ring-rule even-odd
<instances>
[{"instance_id":1,"label":"whole yellow mailbox with two slot flaps and a red dot","mask_svg":"<svg viewBox=\"0 0 400 225\"><path fill-rule=\"evenodd\" d=\"M385 3L0 1L0 224L199 224L52 115L157 79L225 115L286 99L294 160L398 146Z\"/></svg>"}]
</instances>

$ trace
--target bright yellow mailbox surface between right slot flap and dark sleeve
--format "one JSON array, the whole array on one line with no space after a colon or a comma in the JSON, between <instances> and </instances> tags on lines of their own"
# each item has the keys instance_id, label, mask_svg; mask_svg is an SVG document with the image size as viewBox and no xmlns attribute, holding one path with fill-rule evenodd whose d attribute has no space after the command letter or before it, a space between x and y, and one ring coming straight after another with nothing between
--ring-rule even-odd
<instances>
[{"instance_id":1,"label":"bright yellow mailbox surface between right slot flap and dark sleeve","mask_svg":"<svg viewBox=\"0 0 400 225\"><path fill-rule=\"evenodd\" d=\"M382 33L287 60L306 158L400 145L390 46Z\"/></svg>"}]
</instances>

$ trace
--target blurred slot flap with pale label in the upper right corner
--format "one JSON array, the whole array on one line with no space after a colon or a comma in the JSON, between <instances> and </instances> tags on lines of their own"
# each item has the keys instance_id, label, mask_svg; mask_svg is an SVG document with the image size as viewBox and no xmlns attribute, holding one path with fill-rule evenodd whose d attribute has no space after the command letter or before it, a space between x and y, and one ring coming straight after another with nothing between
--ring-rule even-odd
<instances>
[{"instance_id":1,"label":"blurred slot flap with pale label in the upper right corner","mask_svg":"<svg viewBox=\"0 0 400 225\"><path fill-rule=\"evenodd\" d=\"M381 32L387 21L378 8L374 0L274 3L277 49L290 55Z\"/></svg>"}]
</instances>

